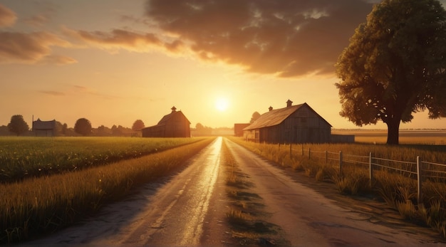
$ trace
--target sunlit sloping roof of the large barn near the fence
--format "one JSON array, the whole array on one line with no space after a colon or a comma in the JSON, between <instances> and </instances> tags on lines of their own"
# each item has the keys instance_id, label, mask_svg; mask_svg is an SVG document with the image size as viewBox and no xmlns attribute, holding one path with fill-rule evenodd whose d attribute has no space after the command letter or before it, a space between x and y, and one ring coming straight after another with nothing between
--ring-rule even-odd
<instances>
[{"instance_id":1,"label":"sunlit sloping roof of the large barn near the fence","mask_svg":"<svg viewBox=\"0 0 446 247\"><path fill-rule=\"evenodd\" d=\"M245 127L243 130L254 130L263 127L271 127L279 125L281 122L284 122L284 120L286 120L287 117L296 112L296 110L299 110L301 107L304 106L308 107L310 110L316 113L316 115L318 115L318 113L315 112L307 103L301 105L291 105L289 107L284 107L281 109L270 110L269 112L265 112L256 121L254 121L248 127ZM321 115L318 116L321 117ZM325 121L328 125L330 125L326 120L323 119L323 117L321 117L321 119Z\"/></svg>"}]
</instances>

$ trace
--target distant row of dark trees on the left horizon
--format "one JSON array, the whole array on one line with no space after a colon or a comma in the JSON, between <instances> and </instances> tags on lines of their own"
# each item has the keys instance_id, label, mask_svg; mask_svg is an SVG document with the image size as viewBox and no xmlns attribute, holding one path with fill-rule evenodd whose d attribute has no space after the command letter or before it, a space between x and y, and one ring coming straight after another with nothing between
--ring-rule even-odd
<instances>
[{"instance_id":1,"label":"distant row of dark trees on the left horizon","mask_svg":"<svg viewBox=\"0 0 446 247\"><path fill-rule=\"evenodd\" d=\"M144 128L142 120L135 120L131 128L123 127L122 125L113 125L111 128L100 125L93 128L90 120L82 117L76 120L74 127L68 127L66 123L56 121L54 126L54 136L98 136L98 137L113 137L113 136L140 136L140 130ZM17 135L17 136L32 136L35 135L31 127L24 120L22 115L14 115L8 125L0 126L0 135Z\"/></svg>"}]
</instances>

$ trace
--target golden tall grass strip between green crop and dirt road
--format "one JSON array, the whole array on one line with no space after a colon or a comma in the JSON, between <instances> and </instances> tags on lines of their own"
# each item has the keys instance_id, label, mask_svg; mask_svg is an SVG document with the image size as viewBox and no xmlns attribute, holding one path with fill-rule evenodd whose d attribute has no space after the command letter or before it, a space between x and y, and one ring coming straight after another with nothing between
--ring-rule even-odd
<instances>
[{"instance_id":1,"label":"golden tall grass strip between green crop and dirt road","mask_svg":"<svg viewBox=\"0 0 446 247\"><path fill-rule=\"evenodd\" d=\"M0 243L53 233L170 174L214 138L78 172L0 184Z\"/></svg>"}]
</instances>

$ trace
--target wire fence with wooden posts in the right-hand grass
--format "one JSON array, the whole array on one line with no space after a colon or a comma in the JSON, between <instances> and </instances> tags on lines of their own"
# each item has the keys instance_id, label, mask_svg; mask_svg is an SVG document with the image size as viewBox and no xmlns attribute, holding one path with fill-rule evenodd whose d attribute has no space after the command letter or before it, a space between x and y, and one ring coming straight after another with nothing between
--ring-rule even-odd
<instances>
[{"instance_id":1,"label":"wire fence with wooden posts in the right-hand grass","mask_svg":"<svg viewBox=\"0 0 446 247\"><path fill-rule=\"evenodd\" d=\"M279 145L280 148L280 145ZM304 144L295 144L289 146L289 154L292 156L306 156L308 159L325 160L326 164L333 164L339 169L339 174L343 174L343 167L346 164L363 166L369 171L370 186L373 184L373 174L375 171L381 170L385 172L393 172L405 177L417 180L417 199L420 201L422 197L422 182L429 179L435 182L446 182L446 164L427 162L420 156L416 160L403 161L395 159L383 159L373 157L372 152L368 155L344 154L342 151L313 151L311 148L304 149Z\"/></svg>"}]
</instances>

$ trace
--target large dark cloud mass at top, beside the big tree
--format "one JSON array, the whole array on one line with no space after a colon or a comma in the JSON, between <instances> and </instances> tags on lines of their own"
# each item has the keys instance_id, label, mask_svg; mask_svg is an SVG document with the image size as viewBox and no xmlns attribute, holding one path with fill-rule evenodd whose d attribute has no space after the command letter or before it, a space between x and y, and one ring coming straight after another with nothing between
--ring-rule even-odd
<instances>
[{"instance_id":1,"label":"large dark cloud mass at top, beside the big tree","mask_svg":"<svg viewBox=\"0 0 446 247\"><path fill-rule=\"evenodd\" d=\"M365 0L150 0L145 13L199 58L293 77L332 73L371 9Z\"/></svg>"}]
</instances>

